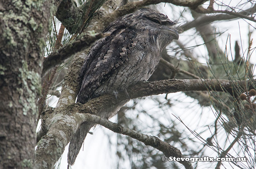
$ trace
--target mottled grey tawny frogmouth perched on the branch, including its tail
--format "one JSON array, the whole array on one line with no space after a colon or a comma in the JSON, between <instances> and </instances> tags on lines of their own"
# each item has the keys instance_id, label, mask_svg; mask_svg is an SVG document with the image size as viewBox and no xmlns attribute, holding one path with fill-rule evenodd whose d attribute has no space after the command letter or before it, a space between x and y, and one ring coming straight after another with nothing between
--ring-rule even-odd
<instances>
[{"instance_id":1,"label":"mottled grey tawny frogmouth perched on the branch, including its tail","mask_svg":"<svg viewBox=\"0 0 256 169\"><path fill-rule=\"evenodd\" d=\"M162 50L179 37L175 24L152 9L139 9L110 23L104 31L108 36L91 47L84 61L77 102L84 104L105 93L116 95L131 84L148 80L157 68ZM110 118L110 114L105 118ZM82 123L71 139L69 164L75 162L92 126L93 123Z\"/></svg>"}]
</instances>

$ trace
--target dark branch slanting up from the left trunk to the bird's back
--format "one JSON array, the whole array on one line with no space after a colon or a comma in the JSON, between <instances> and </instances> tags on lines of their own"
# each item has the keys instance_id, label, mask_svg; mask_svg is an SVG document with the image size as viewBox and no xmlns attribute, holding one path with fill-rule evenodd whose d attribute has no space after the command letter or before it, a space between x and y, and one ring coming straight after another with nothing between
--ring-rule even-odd
<instances>
[{"instance_id":1,"label":"dark branch slanting up from the left trunk to the bird's back","mask_svg":"<svg viewBox=\"0 0 256 169\"><path fill-rule=\"evenodd\" d=\"M54 68L54 66L59 65L62 61L70 57L72 54L90 47L95 41L102 37L103 34L101 33L95 34L93 32L85 32L79 35L79 37L74 41L69 42L59 50L54 51L44 60L42 76L44 76L44 74L50 69Z\"/></svg>"}]
</instances>

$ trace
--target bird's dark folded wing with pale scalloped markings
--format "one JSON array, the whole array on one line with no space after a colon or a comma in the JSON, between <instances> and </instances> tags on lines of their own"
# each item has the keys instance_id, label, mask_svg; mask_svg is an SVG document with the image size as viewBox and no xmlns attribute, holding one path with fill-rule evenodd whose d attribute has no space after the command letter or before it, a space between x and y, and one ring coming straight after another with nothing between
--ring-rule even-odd
<instances>
[{"instance_id":1,"label":"bird's dark folded wing with pale scalloped markings","mask_svg":"<svg viewBox=\"0 0 256 169\"><path fill-rule=\"evenodd\" d=\"M79 103L86 103L91 99L99 85L128 61L135 37L134 31L120 29L95 43L80 73L83 80L78 94Z\"/></svg>"}]
</instances>

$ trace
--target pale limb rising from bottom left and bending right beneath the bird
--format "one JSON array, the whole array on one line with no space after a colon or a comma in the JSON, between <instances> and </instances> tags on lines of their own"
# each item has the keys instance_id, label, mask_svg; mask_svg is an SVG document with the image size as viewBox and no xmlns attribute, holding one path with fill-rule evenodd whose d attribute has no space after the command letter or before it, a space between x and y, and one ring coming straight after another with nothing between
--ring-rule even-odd
<instances>
[{"instance_id":1,"label":"pale limb rising from bottom left and bending right beneath the bird","mask_svg":"<svg viewBox=\"0 0 256 169\"><path fill-rule=\"evenodd\" d=\"M248 82L248 88L252 88L252 85L255 85L256 82L253 81L253 83L254 84ZM210 90L219 92L231 92L234 86L244 88L245 84L245 81L238 81L236 83L230 80L172 79L145 83L141 82L129 87L127 92L131 99L135 99L143 96L158 95L162 93L174 93L180 91ZM79 112L87 112L104 117L104 115L99 114L103 109L121 103L124 100L127 100L127 97L128 96L125 93L120 93L120 95L118 95L118 99L114 99L114 96L112 95L104 95L92 99L86 104L63 104L62 107L55 108L55 110L59 110L47 115L47 119L44 120L45 130L48 132L38 143L36 158L37 164L45 164L46 162L48 165L53 165L55 163L53 161L57 161L57 159L63 153L64 147L71 140L72 135L74 135L80 124L84 122L83 117L81 114L79 114ZM67 103L68 100L66 99L62 102ZM60 150L60 152L53 154L52 150Z\"/></svg>"}]
</instances>

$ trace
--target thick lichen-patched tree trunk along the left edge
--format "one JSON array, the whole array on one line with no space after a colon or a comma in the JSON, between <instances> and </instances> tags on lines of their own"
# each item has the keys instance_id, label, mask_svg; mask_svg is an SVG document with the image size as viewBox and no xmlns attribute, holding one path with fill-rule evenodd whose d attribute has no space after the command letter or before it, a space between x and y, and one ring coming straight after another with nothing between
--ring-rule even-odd
<instances>
[{"instance_id":1,"label":"thick lichen-patched tree trunk along the left edge","mask_svg":"<svg viewBox=\"0 0 256 169\"><path fill-rule=\"evenodd\" d=\"M0 168L33 168L37 98L53 2L0 1Z\"/></svg>"}]
</instances>

